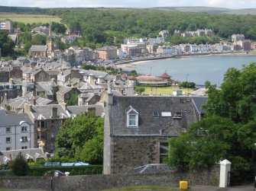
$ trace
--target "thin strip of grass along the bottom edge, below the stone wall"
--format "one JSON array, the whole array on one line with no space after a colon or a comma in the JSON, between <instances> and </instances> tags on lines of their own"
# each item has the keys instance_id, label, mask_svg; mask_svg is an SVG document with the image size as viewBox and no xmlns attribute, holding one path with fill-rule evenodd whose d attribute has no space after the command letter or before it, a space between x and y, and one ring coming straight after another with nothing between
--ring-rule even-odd
<instances>
[{"instance_id":1,"label":"thin strip of grass along the bottom edge, below the stone wall","mask_svg":"<svg viewBox=\"0 0 256 191\"><path fill-rule=\"evenodd\" d=\"M136 191L142 191L142 190L168 190L168 191L176 191L180 190L179 188L173 188L169 186L128 186L118 189L102 189L102 191L127 191L127 190L136 190Z\"/></svg>"}]
</instances>

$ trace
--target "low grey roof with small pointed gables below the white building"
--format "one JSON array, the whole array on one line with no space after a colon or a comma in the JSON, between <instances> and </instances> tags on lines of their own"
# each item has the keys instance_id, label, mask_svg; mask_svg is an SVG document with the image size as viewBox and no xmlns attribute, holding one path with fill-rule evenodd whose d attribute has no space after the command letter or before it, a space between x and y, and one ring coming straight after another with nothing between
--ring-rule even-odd
<instances>
[{"instance_id":1,"label":"low grey roof with small pointed gables below the white building","mask_svg":"<svg viewBox=\"0 0 256 191\"><path fill-rule=\"evenodd\" d=\"M38 158L44 158L47 160L47 154L44 153L42 148L29 148L11 151L0 151L0 162L5 163L7 161L14 160L20 152L27 160L32 159L33 161L36 161Z\"/></svg>"}]
</instances>

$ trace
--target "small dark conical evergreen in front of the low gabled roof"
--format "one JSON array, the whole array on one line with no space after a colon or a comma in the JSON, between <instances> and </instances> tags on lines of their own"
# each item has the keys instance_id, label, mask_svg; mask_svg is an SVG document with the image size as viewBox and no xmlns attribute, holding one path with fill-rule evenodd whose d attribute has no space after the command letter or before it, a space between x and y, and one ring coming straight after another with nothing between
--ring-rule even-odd
<instances>
[{"instance_id":1,"label":"small dark conical evergreen in front of the low gabled roof","mask_svg":"<svg viewBox=\"0 0 256 191\"><path fill-rule=\"evenodd\" d=\"M18 177L26 176L28 174L28 163L21 152L18 153L17 157L12 162L11 170Z\"/></svg>"}]
</instances>

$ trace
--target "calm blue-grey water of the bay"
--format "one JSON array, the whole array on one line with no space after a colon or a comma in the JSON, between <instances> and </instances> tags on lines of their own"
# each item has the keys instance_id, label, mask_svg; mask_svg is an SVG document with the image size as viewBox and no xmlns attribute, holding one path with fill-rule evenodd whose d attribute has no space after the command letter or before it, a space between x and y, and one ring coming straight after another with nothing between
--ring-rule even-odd
<instances>
[{"instance_id":1,"label":"calm blue-grey water of the bay","mask_svg":"<svg viewBox=\"0 0 256 191\"><path fill-rule=\"evenodd\" d=\"M256 62L256 55L212 55L189 56L180 59L155 60L128 65L125 71L136 70L143 75L162 75L164 72L178 81L193 81L204 84L206 80L212 84L222 84L228 68L241 69L242 65Z\"/></svg>"}]
</instances>

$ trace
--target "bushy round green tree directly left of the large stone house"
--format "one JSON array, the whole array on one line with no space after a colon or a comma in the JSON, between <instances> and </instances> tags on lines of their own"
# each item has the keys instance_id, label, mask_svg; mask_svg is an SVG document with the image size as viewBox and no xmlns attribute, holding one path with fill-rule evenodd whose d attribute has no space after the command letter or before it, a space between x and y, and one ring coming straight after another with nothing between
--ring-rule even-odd
<instances>
[{"instance_id":1,"label":"bushy round green tree directly left of the large stone house","mask_svg":"<svg viewBox=\"0 0 256 191\"><path fill-rule=\"evenodd\" d=\"M56 138L54 157L100 161L103 158L103 152L100 150L103 147L102 140L103 119L95 116L95 113L84 113L74 119L66 119ZM94 145L96 145L97 154L87 153L86 155L85 151L93 150Z\"/></svg>"}]
</instances>

